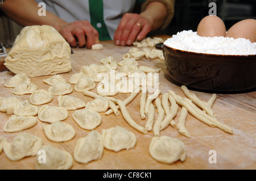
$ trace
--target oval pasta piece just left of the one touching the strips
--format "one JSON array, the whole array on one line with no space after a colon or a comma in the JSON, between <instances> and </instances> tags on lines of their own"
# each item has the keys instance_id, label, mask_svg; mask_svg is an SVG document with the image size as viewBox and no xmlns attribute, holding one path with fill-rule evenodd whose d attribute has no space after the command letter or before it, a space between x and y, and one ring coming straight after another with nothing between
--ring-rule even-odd
<instances>
[{"instance_id":1,"label":"oval pasta piece just left of the one touching the strips","mask_svg":"<svg viewBox=\"0 0 256 181\"><path fill-rule=\"evenodd\" d=\"M85 102L70 95L59 95L58 98L59 107L63 107L66 110L77 110L85 107Z\"/></svg>"}]
</instances>

